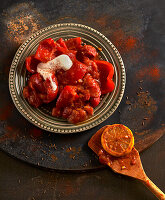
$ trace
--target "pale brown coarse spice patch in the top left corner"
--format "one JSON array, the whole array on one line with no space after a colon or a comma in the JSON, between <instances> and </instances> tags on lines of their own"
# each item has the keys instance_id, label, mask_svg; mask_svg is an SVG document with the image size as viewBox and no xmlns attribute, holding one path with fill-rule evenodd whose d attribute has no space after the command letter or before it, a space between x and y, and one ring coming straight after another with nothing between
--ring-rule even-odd
<instances>
[{"instance_id":1,"label":"pale brown coarse spice patch in the top left corner","mask_svg":"<svg viewBox=\"0 0 165 200\"><path fill-rule=\"evenodd\" d=\"M41 14L32 3L20 3L3 12L6 39L21 44L29 35L42 27Z\"/></svg>"}]
</instances>

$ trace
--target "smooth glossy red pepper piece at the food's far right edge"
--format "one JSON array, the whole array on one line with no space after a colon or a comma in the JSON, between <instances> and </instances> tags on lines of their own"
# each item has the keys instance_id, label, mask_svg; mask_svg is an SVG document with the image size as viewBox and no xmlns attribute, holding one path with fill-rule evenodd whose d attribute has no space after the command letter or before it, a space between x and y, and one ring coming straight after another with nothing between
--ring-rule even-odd
<instances>
[{"instance_id":1,"label":"smooth glossy red pepper piece at the food's far right edge","mask_svg":"<svg viewBox=\"0 0 165 200\"><path fill-rule=\"evenodd\" d=\"M111 63L102 60L95 60L100 72L101 94L112 92L115 84L112 80L114 75L114 67Z\"/></svg>"}]
</instances>

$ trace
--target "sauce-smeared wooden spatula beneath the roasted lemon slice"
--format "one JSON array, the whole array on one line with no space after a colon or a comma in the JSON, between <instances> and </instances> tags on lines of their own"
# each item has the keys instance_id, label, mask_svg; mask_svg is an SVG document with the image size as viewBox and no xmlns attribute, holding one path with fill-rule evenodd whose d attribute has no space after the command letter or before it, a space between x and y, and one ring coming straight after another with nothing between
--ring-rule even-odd
<instances>
[{"instance_id":1,"label":"sauce-smeared wooden spatula beneath the roasted lemon slice","mask_svg":"<svg viewBox=\"0 0 165 200\"><path fill-rule=\"evenodd\" d=\"M101 135L105 128L107 126L97 131L88 142L88 146L99 156L100 161L116 173L140 180L158 199L165 200L165 194L145 174L139 152L135 148L123 157L113 157L104 151L101 145Z\"/></svg>"}]
</instances>

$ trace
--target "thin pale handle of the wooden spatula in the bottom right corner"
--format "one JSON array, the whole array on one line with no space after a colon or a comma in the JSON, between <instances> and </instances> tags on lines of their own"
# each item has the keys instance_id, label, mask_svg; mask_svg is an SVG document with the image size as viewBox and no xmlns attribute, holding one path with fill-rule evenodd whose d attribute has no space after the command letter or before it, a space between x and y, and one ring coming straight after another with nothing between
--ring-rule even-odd
<instances>
[{"instance_id":1,"label":"thin pale handle of the wooden spatula in the bottom right corner","mask_svg":"<svg viewBox=\"0 0 165 200\"><path fill-rule=\"evenodd\" d=\"M142 182L158 199L165 200L165 194L148 177Z\"/></svg>"}]
</instances>

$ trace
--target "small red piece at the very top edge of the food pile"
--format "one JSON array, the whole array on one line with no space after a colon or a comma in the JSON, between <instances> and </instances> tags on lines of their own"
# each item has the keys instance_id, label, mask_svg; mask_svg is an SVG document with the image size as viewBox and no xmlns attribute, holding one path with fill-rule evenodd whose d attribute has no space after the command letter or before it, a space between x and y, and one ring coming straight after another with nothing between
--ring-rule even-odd
<instances>
[{"instance_id":1,"label":"small red piece at the very top edge of the food pile","mask_svg":"<svg viewBox=\"0 0 165 200\"><path fill-rule=\"evenodd\" d=\"M69 50L78 50L82 46L82 41L80 37L71 38L65 41L65 44Z\"/></svg>"}]
</instances>

